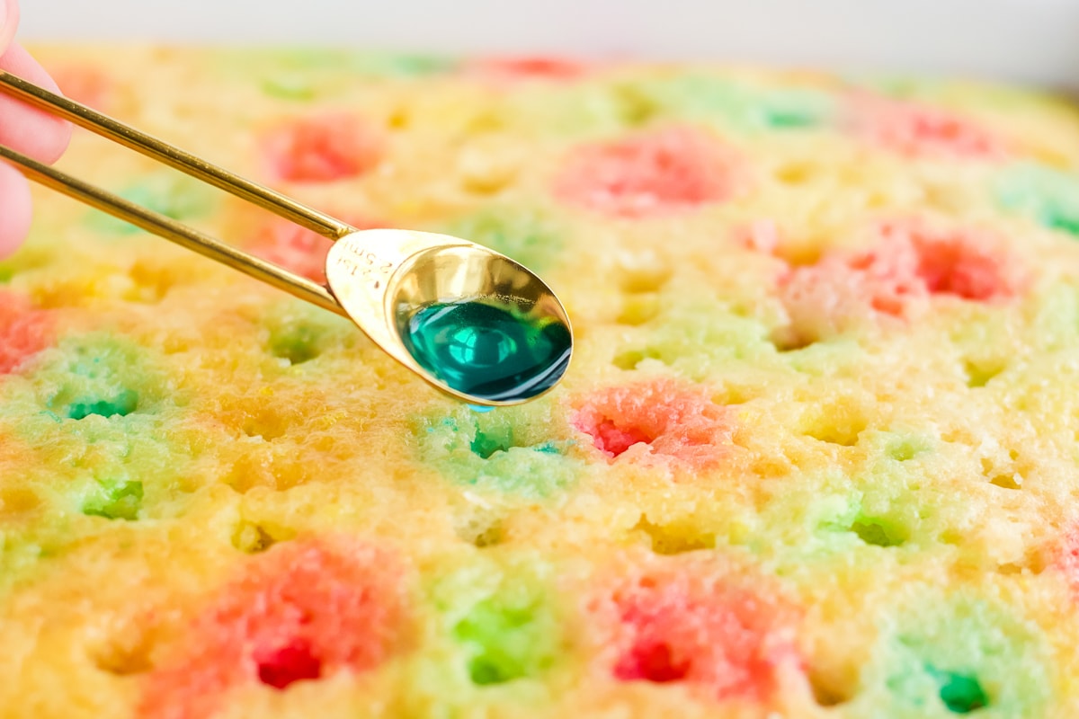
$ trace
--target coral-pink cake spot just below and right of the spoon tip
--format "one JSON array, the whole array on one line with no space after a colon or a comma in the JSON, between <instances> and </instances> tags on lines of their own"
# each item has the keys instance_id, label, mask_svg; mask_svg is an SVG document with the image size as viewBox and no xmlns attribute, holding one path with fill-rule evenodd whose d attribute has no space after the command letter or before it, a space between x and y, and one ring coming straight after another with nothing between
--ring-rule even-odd
<instances>
[{"instance_id":1,"label":"coral-pink cake spot just below and right of the spoon tip","mask_svg":"<svg viewBox=\"0 0 1079 719\"><path fill-rule=\"evenodd\" d=\"M612 387L592 395L581 404L572 423L609 457L644 443L655 455L699 469L722 461L730 446L732 424L726 410L699 390L670 379Z\"/></svg>"}]
</instances>

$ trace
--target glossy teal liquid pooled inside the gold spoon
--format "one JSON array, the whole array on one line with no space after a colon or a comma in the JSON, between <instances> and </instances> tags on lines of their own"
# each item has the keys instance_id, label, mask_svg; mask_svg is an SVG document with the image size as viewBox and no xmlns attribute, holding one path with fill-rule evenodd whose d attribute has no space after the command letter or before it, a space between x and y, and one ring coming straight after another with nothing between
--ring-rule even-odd
<instances>
[{"instance_id":1,"label":"glossy teal liquid pooled inside the gold spoon","mask_svg":"<svg viewBox=\"0 0 1079 719\"><path fill-rule=\"evenodd\" d=\"M492 299L433 303L400 329L421 367L459 392L495 401L549 389L565 373L573 344L562 322Z\"/></svg>"}]
</instances>

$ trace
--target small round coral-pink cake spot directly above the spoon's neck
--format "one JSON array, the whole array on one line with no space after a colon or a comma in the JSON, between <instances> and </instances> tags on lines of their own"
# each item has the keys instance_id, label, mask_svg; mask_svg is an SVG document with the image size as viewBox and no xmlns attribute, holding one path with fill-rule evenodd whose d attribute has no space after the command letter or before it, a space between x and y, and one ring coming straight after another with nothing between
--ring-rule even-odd
<instances>
[{"instance_id":1,"label":"small round coral-pink cake spot directly above the spoon's neck","mask_svg":"<svg viewBox=\"0 0 1079 719\"><path fill-rule=\"evenodd\" d=\"M301 117L267 135L263 152L273 175L290 182L332 182L372 169L382 138L347 114Z\"/></svg>"}]
</instances>

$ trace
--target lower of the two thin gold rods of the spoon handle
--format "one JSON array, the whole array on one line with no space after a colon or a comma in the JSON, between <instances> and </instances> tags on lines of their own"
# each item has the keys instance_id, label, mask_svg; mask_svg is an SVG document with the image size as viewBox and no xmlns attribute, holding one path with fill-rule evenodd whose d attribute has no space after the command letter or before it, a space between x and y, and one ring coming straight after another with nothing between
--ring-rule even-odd
<instances>
[{"instance_id":1,"label":"lower of the two thin gold rods of the spoon handle","mask_svg":"<svg viewBox=\"0 0 1079 719\"><path fill-rule=\"evenodd\" d=\"M341 305L338 304L329 290L305 277L295 275L287 269L246 252L241 252L234 247L214 239L197 230L188 227L172 218L159 215L123 197L87 184L82 180L49 165L43 165L2 144L0 144L0 160L5 160L15 165L27 178L40 182L47 188L92 207L96 207L125 222L131 222L137 227L160 235L189 250L194 250L211 260L217 260L233 269L238 269L245 275L262 280L293 296L347 317L347 314L341 308Z\"/></svg>"}]
</instances>

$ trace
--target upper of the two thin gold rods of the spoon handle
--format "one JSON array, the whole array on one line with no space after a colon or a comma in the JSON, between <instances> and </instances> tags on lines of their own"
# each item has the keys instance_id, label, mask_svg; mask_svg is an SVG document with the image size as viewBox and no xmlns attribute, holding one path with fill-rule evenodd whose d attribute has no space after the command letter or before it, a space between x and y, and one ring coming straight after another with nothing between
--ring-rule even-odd
<instances>
[{"instance_id":1,"label":"upper of the two thin gold rods of the spoon handle","mask_svg":"<svg viewBox=\"0 0 1079 719\"><path fill-rule=\"evenodd\" d=\"M337 240L354 229L328 215L312 209L257 182L246 180L229 170L163 142L112 117L92 110L74 100L51 93L9 72L0 71L0 92L50 114L63 117L92 133L131 148L144 155L174 167L216 188L232 193L259 207L295 222L324 237Z\"/></svg>"}]
</instances>

